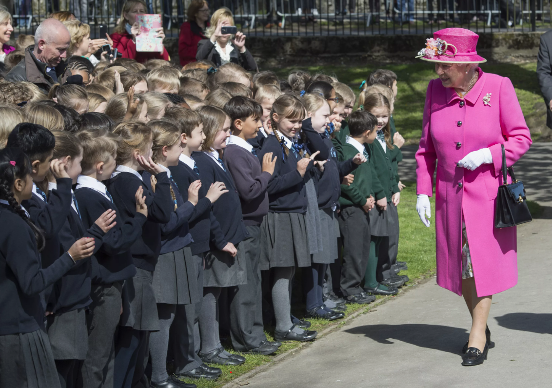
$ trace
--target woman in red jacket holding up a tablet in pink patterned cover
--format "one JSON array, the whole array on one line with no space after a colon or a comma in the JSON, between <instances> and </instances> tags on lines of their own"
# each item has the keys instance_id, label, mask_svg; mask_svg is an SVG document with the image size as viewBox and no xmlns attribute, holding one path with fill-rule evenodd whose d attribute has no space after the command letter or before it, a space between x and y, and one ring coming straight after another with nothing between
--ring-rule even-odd
<instances>
[{"instance_id":1,"label":"woman in red jacket holding up a tablet in pink patterned cover","mask_svg":"<svg viewBox=\"0 0 552 388\"><path fill-rule=\"evenodd\" d=\"M146 3L142 0L128 0L123 6L121 20L115 27L115 32L111 34L113 39L113 48L117 49L123 58L131 58L142 63L148 59L163 59L169 60L169 54L163 46L161 52L137 52L136 51L136 35L140 34L138 23L136 23L136 15L147 14ZM163 28L157 29L157 37L165 39Z\"/></svg>"}]
</instances>

